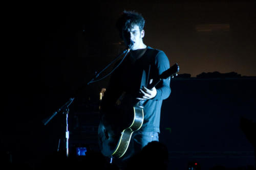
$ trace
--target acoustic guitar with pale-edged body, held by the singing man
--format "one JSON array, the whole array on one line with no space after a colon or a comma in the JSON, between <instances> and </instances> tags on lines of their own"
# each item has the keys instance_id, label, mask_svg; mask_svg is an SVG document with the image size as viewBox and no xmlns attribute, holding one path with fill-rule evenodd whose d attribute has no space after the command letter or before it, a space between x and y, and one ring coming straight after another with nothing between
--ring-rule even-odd
<instances>
[{"instance_id":1,"label":"acoustic guitar with pale-edged body, held by the singing man","mask_svg":"<svg viewBox=\"0 0 256 170\"><path fill-rule=\"evenodd\" d=\"M154 88L162 79L167 79L168 77L177 76L179 72L179 65L176 63L166 71L164 71L160 76L159 80L150 84L147 88ZM120 97L122 98L122 96ZM127 151L131 136L133 132L139 130L143 124L143 101L138 101L133 107L133 120L130 126L124 128L122 131L113 126L104 123L101 120L98 128L98 138L99 138L99 148L101 153L106 157L116 157L121 158ZM132 114L132 113L131 113ZM104 119L104 118L103 118ZM116 120L118 121L118 120Z\"/></svg>"}]
</instances>

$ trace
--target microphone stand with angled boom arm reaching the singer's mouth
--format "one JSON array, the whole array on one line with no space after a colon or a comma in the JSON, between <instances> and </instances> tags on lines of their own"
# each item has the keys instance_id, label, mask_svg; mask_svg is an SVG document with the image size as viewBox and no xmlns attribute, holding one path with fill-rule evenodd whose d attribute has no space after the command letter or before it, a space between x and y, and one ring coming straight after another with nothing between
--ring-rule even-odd
<instances>
[{"instance_id":1,"label":"microphone stand with angled boom arm reaching the singer's mouth","mask_svg":"<svg viewBox=\"0 0 256 170\"><path fill-rule=\"evenodd\" d=\"M96 82L96 81L99 81L99 80L95 80L106 68L108 68L111 64L113 64L120 56L122 56L123 54L124 57L122 59L122 61L124 60L124 58L126 57L126 55L130 52L130 48L133 44L129 45L129 48L124 50L121 54L119 54L113 61L111 61L105 68L103 68L98 74L95 74L95 77L89 81L87 83L87 85L93 83L93 82ZM122 62L121 61L121 62ZM110 72L110 74L121 64L121 62ZM106 75L106 76L109 76L110 74ZM105 76L105 77L106 77ZM103 77L103 78L105 78ZM103 78L101 78L100 80L102 80ZM79 90L78 90L79 91ZM77 95L77 93L76 93ZM65 137L65 141L66 141L66 147L65 147L65 150L66 150L66 155L67 157L69 156L69 129L68 129L68 114L69 114L69 106L72 104L72 102L74 101L75 98L70 98L69 101L64 104L63 106L61 106L57 111L55 111L52 116L50 116L50 118L48 119L44 119L42 120L42 123L44 123L44 125L46 126L50 120L56 116L58 113L62 112L62 114L66 114L66 137ZM59 151L59 144L60 144L60 139L59 139L59 143L58 143L58 150Z\"/></svg>"}]
</instances>

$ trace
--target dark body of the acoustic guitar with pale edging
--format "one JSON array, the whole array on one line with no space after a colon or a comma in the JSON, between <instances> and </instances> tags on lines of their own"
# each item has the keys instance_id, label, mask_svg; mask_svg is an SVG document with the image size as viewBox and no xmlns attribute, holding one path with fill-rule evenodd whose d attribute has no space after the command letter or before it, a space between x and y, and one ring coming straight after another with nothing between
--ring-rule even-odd
<instances>
[{"instance_id":1,"label":"dark body of the acoustic guitar with pale edging","mask_svg":"<svg viewBox=\"0 0 256 170\"><path fill-rule=\"evenodd\" d=\"M104 121L100 122L98 129L99 146L104 156L120 158L127 151L133 132L141 128L144 118L143 107L136 105L133 109L134 119L131 126L121 132L117 132L110 125L104 125Z\"/></svg>"}]
</instances>

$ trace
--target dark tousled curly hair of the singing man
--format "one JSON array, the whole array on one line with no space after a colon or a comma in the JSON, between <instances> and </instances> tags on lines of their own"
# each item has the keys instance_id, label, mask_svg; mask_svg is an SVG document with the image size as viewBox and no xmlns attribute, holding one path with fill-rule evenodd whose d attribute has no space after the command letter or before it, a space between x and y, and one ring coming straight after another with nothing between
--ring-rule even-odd
<instances>
[{"instance_id":1,"label":"dark tousled curly hair of the singing man","mask_svg":"<svg viewBox=\"0 0 256 170\"><path fill-rule=\"evenodd\" d=\"M120 38L122 38L122 31L131 29L134 25L138 25L140 31L142 31L145 25L145 19L138 12L124 10L116 22L116 28L119 31Z\"/></svg>"}]
</instances>

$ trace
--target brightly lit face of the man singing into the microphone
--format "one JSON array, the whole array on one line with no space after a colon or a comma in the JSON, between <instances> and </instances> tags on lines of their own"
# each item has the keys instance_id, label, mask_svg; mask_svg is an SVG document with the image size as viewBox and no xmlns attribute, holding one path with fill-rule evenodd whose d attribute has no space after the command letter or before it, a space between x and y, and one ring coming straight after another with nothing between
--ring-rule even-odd
<instances>
[{"instance_id":1,"label":"brightly lit face of the man singing into the microphone","mask_svg":"<svg viewBox=\"0 0 256 170\"><path fill-rule=\"evenodd\" d=\"M122 37L126 46L130 44L131 41L134 42L131 50L137 50L142 47L144 37L144 30L140 32L139 26L134 25L131 29L122 32Z\"/></svg>"}]
</instances>

